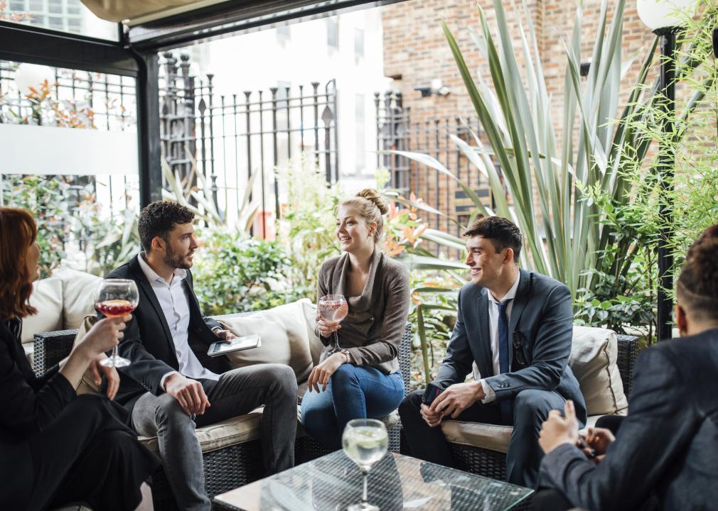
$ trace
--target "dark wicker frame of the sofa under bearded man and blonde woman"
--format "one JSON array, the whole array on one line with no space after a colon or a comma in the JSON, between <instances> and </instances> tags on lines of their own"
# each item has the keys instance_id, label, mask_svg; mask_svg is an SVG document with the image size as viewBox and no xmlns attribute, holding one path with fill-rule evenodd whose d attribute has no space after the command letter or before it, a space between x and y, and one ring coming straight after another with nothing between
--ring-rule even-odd
<instances>
[{"instance_id":1,"label":"dark wicker frame of the sofa under bearded man and blonde woman","mask_svg":"<svg viewBox=\"0 0 718 511\"><path fill-rule=\"evenodd\" d=\"M34 371L42 375L47 368L51 368L62 358L65 358L73 347L78 330L57 330L55 332L38 333L34 335ZM411 323L406 323L406 330L401 339L398 359L402 376L404 377L404 391L409 392L409 360L411 356ZM389 431L389 449L393 452L399 450L399 432L401 423L397 423ZM299 436L302 435L302 436ZM314 439L300 433L295 445L296 463L307 462L311 459L328 454L328 450ZM204 452L202 454L205 469L205 491L212 498L230 489L241 487L248 482L261 479L264 475L262 465L261 444L258 439L245 441L241 444L223 446L220 449ZM152 497L154 509L157 511L176 510L172 490L160 467L153 474Z\"/></svg>"}]
</instances>

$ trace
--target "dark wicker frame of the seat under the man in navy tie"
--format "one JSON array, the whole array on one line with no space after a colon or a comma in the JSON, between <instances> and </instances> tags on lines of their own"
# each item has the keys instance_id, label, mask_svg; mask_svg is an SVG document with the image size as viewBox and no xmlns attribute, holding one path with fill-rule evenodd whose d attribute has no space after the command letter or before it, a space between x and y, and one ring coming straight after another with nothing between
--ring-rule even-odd
<instances>
[{"instance_id":1,"label":"dark wicker frame of the seat under the man in navy tie","mask_svg":"<svg viewBox=\"0 0 718 511\"><path fill-rule=\"evenodd\" d=\"M633 384L633 366L638 356L638 338L633 335L617 335L617 341L617 366L623 382L624 392L628 396ZM462 444L449 445L454 462L460 469L485 477L492 477L493 479L505 480L505 453Z\"/></svg>"}]
</instances>

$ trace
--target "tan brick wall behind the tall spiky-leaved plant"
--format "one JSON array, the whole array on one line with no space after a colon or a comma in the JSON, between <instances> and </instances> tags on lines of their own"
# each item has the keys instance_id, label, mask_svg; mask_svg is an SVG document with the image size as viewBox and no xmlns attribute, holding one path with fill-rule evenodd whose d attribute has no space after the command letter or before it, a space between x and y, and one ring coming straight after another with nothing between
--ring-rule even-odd
<instances>
[{"instance_id":1,"label":"tan brick wall behind the tall spiky-leaved plant","mask_svg":"<svg viewBox=\"0 0 718 511\"><path fill-rule=\"evenodd\" d=\"M516 4L521 5L521 1ZM493 2L480 0L485 11L488 24L495 27L495 11ZM527 0L528 14L531 17L536 37L538 39L541 63L546 77L546 87L552 96L551 108L554 116L557 136L560 140L562 121L562 105L564 100L564 77L566 57L563 41L569 40L576 16L576 3L561 0ZM600 19L599 0L584 0L583 29L582 29L582 61L586 61L592 53L595 42L597 24ZM615 2L610 1L608 10L614 9ZM521 39L516 26L516 14L505 2L505 9L509 22L515 27L517 54L521 52ZM612 16L610 16L612 17ZM461 116L465 119L473 118L475 112L467 94L461 77L457 71L454 58L439 25L439 19L444 19L449 29L462 49L470 70L482 75L487 82L491 82L487 62L480 57L470 36L469 27L480 32L480 19L475 0L409 0L398 4L391 4L383 8L384 31L384 71L388 77L393 77L393 87L403 95L404 107L411 108L411 123L433 122L434 119L454 119ZM528 29L528 27L526 27ZM495 33L495 32L494 32ZM631 85L635 83L638 70L643 62L645 51L653 42L654 36L638 19L635 11L635 2L627 1L624 14L623 27L623 59L626 60L638 52L633 66L623 78L622 100L628 96ZM528 37L528 34L527 34ZM643 47L642 51L639 51ZM523 63L522 61L520 63ZM431 84L434 79L442 80L442 84L449 88L447 96L432 95L421 97L414 90L415 87L424 87ZM620 102L623 106L623 101ZM617 113L618 115L618 113ZM444 137L440 137L438 154L444 156ZM413 143L413 149L421 149L422 143ZM444 159L444 158L439 158ZM426 201L433 206L439 206L442 211L455 210L454 186L448 179L439 180L439 190L434 180L433 171L414 169L414 183L412 186L420 195L426 196ZM476 171L466 170L462 175L474 183L477 188L482 187L482 180ZM427 175L428 174L428 175ZM447 199L448 198L448 199ZM440 228L447 228L448 221L439 221Z\"/></svg>"}]
</instances>

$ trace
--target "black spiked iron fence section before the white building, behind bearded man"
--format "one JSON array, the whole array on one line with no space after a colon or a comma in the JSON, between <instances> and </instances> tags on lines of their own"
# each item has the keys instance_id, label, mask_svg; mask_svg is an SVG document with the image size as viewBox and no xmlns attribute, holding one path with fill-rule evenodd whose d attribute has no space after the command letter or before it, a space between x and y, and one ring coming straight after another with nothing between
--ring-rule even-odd
<instances>
[{"instance_id":1,"label":"black spiked iron fence section before the white building, behind bearded man","mask_svg":"<svg viewBox=\"0 0 718 511\"><path fill-rule=\"evenodd\" d=\"M177 59L167 52L163 58L160 125L167 162L183 179L200 173L226 221L238 217L253 173L261 211L279 218L281 183L275 169L302 153L314 158L328 182L337 181L335 80L218 93L214 75L190 75L188 55Z\"/></svg>"}]
</instances>

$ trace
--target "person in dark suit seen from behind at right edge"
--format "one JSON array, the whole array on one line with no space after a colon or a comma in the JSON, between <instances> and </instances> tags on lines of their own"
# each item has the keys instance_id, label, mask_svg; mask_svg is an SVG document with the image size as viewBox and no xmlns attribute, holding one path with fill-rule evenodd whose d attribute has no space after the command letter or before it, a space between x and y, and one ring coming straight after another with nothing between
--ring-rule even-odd
<instances>
[{"instance_id":1,"label":"person in dark suit seen from behind at right edge","mask_svg":"<svg viewBox=\"0 0 718 511\"><path fill-rule=\"evenodd\" d=\"M596 429L586 439L598 464L576 446L571 403L565 417L551 411L539 439L541 477L556 492L539 492L535 509L633 510L650 500L661 510L716 509L718 226L689 250L676 299L681 339L640 355L617 435Z\"/></svg>"}]
</instances>

